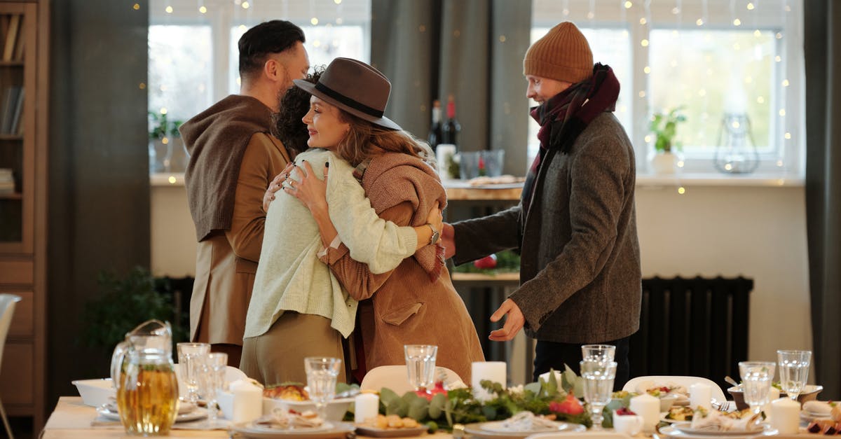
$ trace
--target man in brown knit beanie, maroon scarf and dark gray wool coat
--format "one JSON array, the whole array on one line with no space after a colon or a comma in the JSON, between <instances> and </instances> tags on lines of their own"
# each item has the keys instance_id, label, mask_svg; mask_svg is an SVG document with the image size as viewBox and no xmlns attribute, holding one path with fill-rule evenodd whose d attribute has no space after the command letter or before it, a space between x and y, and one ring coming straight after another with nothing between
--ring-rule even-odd
<instances>
[{"instance_id":1,"label":"man in brown knit beanie, maroon scarf and dark gray wool coat","mask_svg":"<svg viewBox=\"0 0 841 439\"><path fill-rule=\"evenodd\" d=\"M584 34L564 22L537 40L523 60L526 96L538 105L540 151L520 204L498 214L444 225L456 264L514 248L520 288L491 315L505 325L489 338L508 341L525 327L537 339L534 379L569 365L581 346L616 346L614 388L630 376L628 338L642 302L636 167L631 140L613 115L619 82L593 65Z\"/></svg>"}]
</instances>

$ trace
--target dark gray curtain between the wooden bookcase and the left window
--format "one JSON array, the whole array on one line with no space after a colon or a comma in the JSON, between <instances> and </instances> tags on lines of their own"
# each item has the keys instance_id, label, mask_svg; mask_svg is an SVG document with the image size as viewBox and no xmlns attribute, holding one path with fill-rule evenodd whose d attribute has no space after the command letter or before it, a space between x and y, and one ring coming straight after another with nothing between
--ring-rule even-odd
<instances>
[{"instance_id":1,"label":"dark gray curtain between the wooden bookcase and the left window","mask_svg":"<svg viewBox=\"0 0 841 439\"><path fill-rule=\"evenodd\" d=\"M72 379L108 373L77 343L98 272L149 267L149 5L133 3L51 2L48 410Z\"/></svg>"}]
</instances>

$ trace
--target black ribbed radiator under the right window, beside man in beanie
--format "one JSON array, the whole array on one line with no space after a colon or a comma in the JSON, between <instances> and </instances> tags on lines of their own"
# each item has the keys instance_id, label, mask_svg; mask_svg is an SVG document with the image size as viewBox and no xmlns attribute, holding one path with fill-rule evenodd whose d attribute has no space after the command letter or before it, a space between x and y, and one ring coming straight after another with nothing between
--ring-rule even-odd
<instances>
[{"instance_id":1,"label":"black ribbed radiator under the right window, beside man in beanie","mask_svg":"<svg viewBox=\"0 0 841 439\"><path fill-rule=\"evenodd\" d=\"M631 376L706 377L722 389L748 358L747 278L643 279L640 328L631 336Z\"/></svg>"}]
</instances>

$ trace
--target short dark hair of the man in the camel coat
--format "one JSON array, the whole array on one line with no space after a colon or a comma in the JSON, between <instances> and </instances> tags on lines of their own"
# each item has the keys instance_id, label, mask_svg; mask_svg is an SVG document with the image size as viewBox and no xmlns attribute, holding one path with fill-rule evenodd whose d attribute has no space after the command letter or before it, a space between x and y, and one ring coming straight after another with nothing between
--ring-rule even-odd
<instances>
[{"instance_id":1,"label":"short dark hair of the man in the camel coat","mask_svg":"<svg viewBox=\"0 0 841 439\"><path fill-rule=\"evenodd\" d=\"M242 34L240 48L240 77L250 77L262 69L266 56L305 43L304 31L286 20L272 20L257 24Z\"/></svg>"}]
</instances>

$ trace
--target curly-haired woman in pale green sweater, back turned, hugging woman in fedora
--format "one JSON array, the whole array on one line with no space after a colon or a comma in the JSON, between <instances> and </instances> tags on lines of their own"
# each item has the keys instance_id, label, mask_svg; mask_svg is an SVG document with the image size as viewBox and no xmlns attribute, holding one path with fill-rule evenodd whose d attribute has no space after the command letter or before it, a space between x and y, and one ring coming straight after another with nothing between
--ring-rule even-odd
<instances>
[{"instance_id":1,"label":"curly-haired woman in pale green sweater, back turned, hugging woman in fedora","mask_svg":"<svg viewBox=\"0 0 841 439\"><path fill-rule=\"evenodd\" d=\"M308 81L315 82L318 77L316 69ZM284 145L305 146L309 135L301 117L307 111L309 93L300 88L286 93L276 115L277 135ZM347 224L357 232L346 235L344 243L372 272L394 270L405 257L428 245L432 235L429 226L401 227L378 217L347 161L331 151L310 148L290 164L304 161L318 164L319 169L333 164L328 199L349 213L352 220ZM344 357L342 340L353 331L357 300L319 261L319 252L331 241L322 241L319 227L304 204L283 194L264 209L265 235L246 315L240 367L262 383L302 382L306 379L301 367L305 357ZM442 227L437 202L429 209L426 222L436 230ZM341 373L340 379L345 378Z\"/></svg>"}]
</instances>

